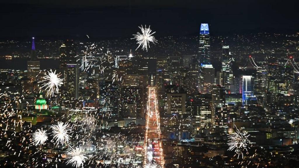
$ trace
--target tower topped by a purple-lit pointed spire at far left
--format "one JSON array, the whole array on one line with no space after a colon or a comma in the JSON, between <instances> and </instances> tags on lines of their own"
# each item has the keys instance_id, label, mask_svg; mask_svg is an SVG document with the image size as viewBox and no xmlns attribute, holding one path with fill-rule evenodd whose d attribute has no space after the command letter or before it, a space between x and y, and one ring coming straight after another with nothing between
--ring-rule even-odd
<instances>
[{"instance_id":1,"label":"tower topped by a purple-lit pointed spire at far left","mask_svg":"<svg viewBox=\"0 0 299 168\"><path fill-rule=\"evenodd\" d=\"M32 79L32 81L35 81L36 76L39 74L39 65L40 62L36 58L34 37L32 37L31 59L27 61L28 78Z\"/></svg>"}]
</instances>

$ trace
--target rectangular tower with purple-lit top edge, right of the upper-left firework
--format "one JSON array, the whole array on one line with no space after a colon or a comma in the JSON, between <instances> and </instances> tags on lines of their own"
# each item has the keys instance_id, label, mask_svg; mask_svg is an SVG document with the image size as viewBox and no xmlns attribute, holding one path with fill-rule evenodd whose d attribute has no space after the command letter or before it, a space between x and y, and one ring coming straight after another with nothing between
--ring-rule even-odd
<instances>
[{"instance_id":1,"label":"rectangular tower with purple-lit top edge, right of the upper-left firework","mask_svg":"<svg viewBox=\"0 0 299 168\"><path fill-rule=\"evenodd\" d=\"M79 65L66 64L66 88L68 99L78 99L79 97Z\"/></svg>"}]
</instances>

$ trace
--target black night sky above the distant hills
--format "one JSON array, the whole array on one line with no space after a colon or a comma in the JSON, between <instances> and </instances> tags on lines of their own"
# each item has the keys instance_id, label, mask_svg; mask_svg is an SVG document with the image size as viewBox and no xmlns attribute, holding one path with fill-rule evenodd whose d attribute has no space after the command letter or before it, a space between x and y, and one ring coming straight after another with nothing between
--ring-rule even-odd
<instances>
[{"instance_id":1,"label":"black night sky above the distant hills","mask_svg":"<svg viewBox=\"0 0 299 168\"><path fill-rule=\"evenodd\" d=\"M156 36L298 32L298 2L270 0L7 0L0 2L0 38L131 37L138 25Z\"/></svg>"}]
</instances>

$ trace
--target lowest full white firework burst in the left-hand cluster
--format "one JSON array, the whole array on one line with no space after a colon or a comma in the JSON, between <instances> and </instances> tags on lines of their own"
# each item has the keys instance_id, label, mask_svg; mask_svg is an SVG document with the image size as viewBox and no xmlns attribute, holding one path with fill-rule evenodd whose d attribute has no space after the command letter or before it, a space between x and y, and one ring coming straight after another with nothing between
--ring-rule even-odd
<instances>
[{"instance_id":1,"label":"lowest full white firework burst in the left-hand cluster","mask_svg":"<svg viewBox=\"0 0 299 168\"><path fill-rule=\"evenodd\" d=\"M71 163L72 166L75 167L83 166L83 163L87 159L86 155L84 154L84 149L81 147L76 147L75 149L71 147L66 151L65 154L68 156L68 161L66 164Z\"/></svg>"}]
</instances>

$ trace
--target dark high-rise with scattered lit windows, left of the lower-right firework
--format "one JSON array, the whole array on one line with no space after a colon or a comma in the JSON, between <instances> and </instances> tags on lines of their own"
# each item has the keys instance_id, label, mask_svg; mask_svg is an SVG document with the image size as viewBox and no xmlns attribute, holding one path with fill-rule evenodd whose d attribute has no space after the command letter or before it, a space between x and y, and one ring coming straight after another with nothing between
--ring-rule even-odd
<instances>
[{"instance_id":1,"label":"dark high-rise with scattered lit windows, left of the lower-right firework","mask_svg":"<svg viewBox=\"0 0 299 168\"><path fill-rule=\"evenodd\" d=\"M228 113L225 105L225 87L215 85L212 91L211 125L225 127L228 125Z\"/></svg>"}]
</instances>

